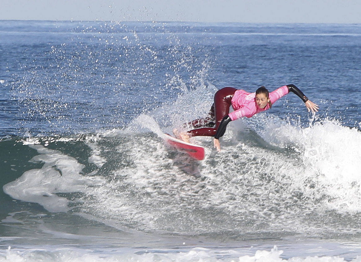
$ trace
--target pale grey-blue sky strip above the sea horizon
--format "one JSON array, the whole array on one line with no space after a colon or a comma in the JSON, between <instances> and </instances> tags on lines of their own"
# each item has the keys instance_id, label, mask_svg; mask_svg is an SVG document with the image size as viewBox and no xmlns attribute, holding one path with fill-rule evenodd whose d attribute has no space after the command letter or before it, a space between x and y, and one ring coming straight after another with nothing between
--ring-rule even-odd
<instances>
[{"instance_id":1,"label":"pale grey-blue sky strip above the sea horizon","mask_svg":"<svg viewBox=\"0 0 361 262\"><path fill-rule=\"evenodd\" d=\"M361 0L0 0L0 20L361 23Z\"/></svg>"}]
</instances>

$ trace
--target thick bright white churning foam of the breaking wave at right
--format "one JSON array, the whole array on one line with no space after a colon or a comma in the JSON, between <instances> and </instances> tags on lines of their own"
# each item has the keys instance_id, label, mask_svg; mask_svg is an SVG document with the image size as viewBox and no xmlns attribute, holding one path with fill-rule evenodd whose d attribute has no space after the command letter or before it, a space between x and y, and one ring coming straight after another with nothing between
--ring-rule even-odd
<instances>
[{"instance_id":1,"label":"thick bright white churning foam of the breaking wave at right","mask_svg":"<svg viewBox=\"0 0 361 262\"><path fill-rule=\"evenodd\" d=\"M270 141L286 147L290 143L303 154L304 173L292 176L310 197L330 196L324 204L330 209L357 212L361 210L361 133L335 120L317 122L308 128L289 124L270 125ZM307 180L313 186L305 186Z\"/></svg>"}]
</instances>

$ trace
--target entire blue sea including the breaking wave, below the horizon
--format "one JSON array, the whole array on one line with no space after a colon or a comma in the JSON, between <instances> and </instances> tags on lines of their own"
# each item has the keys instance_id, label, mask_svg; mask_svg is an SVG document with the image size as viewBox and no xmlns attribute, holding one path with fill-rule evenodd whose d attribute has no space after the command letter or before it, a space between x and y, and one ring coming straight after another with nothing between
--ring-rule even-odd
<instances>
[{"instance_id":1,"label":"entire blue sea including the breaking wave, below the horizon","mask_svg":"<svg viewBox=\"0 0 361 262\"><path fill-rule=\"evenodd\" d=\"M0 261L361 261L361 25L0 21ZM293 83L195 137L216 90Z\"/></svg>"}]
</instances>

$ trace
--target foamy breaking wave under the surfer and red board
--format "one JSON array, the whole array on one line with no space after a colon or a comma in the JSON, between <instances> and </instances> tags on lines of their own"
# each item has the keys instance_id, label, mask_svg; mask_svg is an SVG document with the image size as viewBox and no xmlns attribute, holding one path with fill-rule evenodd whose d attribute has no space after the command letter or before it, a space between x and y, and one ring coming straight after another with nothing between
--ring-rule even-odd
<instances>
[{"instance_id":1,"label":"foamy breaking wave under the surfer and red board","mask_svg":"<svg viewBox=\"0 0 361 262\"><path fill-rule=\"evenodd\" d=\"M206 150L195 161L166 145L167 127L156 120L162 114L154 115L124 130L18 139L10 155L30 163L4 192L119 230L217 239L357 236L357 129L259 115L231 123L221 153L212 139L192 138Z\"/></svg>"}]
</instances>

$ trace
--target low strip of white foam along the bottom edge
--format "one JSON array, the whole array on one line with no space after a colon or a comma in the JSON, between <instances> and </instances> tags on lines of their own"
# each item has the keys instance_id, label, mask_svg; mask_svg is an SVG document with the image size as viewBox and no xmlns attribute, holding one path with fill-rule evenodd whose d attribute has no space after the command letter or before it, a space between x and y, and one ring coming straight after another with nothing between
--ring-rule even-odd
<instances>
[{"instance_id":1,"label":"low strip of white foam along the bottom edge","mask_svg":"<svg viewBox=\"0 0 361 262\"><path fill-rule=\"evenodd\" d=\"M245 254L246 253L246 254ZM0 262L38 262L38 261L56 261L56 262L344 262L344 258L339 256L313 256L313 257L291 257L282 258L282 250L274 247L270 251L257 250L254 254L247 254L239 249L209 249L209 248L191 248L190 250L84 250L55 248L17 250L8 248L0 250ZM361 257L357 257L351 262L360 262Z\"/></svg>"}]
</instances>

